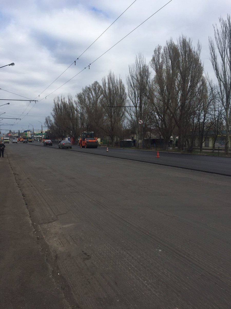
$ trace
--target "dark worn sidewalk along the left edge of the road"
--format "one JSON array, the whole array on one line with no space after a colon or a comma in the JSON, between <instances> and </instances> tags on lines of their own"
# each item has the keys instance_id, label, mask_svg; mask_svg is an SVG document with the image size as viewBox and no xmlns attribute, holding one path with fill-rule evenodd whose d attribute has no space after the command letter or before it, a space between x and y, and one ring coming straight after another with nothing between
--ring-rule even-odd
<instances>
[{"instance_id":1,"label":"dark worn sidewalk along the left edge of the road","mask_svg":"<svg viewBox=\"0 0 231 309\"><path fill-rule=\"evenodd\" d=\"M41 252L6 151L0 169L0 308L71 308Z\"/></svg>"}]
</instances>

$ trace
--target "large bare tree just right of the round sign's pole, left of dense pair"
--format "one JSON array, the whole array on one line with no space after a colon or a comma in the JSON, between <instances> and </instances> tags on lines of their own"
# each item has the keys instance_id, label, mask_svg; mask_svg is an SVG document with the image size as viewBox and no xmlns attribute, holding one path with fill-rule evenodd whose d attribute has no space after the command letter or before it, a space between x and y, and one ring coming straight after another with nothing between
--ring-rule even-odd
<instances>
[{"instance_id":1,"label":"large bare tree just right of the round sign's pole, left of dense pair","mask_svg":"<svg viewBox=\"0 0 231 309\"><path fill-rule=\"evenodd\" d=\"M150 65L155 77L148 83L146 93L152 110L152 119L160 136L167 146L175 123L172 114L175 114L177 75L179 52L174 42L169 40L163 50L160 45L154 50Z\"/></svg>"}]
</instances>

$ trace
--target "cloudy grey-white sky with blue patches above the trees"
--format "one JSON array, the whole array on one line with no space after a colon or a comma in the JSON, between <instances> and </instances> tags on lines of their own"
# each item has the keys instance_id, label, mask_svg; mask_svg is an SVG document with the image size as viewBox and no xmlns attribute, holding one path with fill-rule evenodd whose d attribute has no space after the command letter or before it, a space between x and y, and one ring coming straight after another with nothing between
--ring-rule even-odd
<instances>
[{"instance_id":1,"label":"cloudy grey-white sky with blue patches above the trees","mask_svg":"<svg viewBox=\"0 0 231 309\"><path fill-rule=\"evenodd\" d=\"M0 105L10 102L0 107L0 114L6 112L1 116L21 118L20 121L3 119L1 131L17 132L27 130L28 126L32 129L32 125L34 130L41 128L39 121L44 123L45 116L50 115L56 96L67 97L70 93L75 98L76 93L95 80L101 83L109 70L126 83L128 65L138 53L142 53L148 63L158 44L163 46L170 37L176 41L181 34L190 37L195 46L197 40L200 41L205 72L214 78L208 38L213 37L213 24L219 23L219 17L226 18L230 14L230 0L172 0L110 49L168 2L136 0L132 4L133 1L1 0L0 66L12 62L15 66L0 69L0 99L6 99L1 100ZM87 49L98 36L100 38ZM10 99L38 102L34 105L34 102Z\"/></svg>"}]
</instances>

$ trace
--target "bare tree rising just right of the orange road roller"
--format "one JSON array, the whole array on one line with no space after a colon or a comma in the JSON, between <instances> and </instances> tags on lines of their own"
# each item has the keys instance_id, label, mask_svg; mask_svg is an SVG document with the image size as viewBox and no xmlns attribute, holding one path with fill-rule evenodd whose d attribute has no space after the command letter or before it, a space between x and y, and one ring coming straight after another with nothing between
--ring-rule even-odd
<instances>
[{"instance_id":1,"label":"bare tree rising just right of the orange road roller","mask_svg":"<svg viewBox=\"0 0 231 309\"><path fill-rule=\"evenodd\" d=\"M121 78L116 78L111 71L107 78L102 79L102 90L104 112L102 129L110 136L112 145L114 145L115 138L121 135L123 129L127 94Z\"/></svg>"}]
</instances>

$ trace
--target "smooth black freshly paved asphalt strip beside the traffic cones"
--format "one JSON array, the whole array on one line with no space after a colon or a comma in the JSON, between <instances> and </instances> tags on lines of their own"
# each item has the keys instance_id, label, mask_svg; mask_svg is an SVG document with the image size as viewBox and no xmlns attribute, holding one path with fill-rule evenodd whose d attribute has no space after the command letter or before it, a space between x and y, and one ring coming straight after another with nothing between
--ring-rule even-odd
<instances>
[{"instance_id":1,"label":"smooth black freshly paved asphalt strip beside the traffic cones","mask_svg":"<svg viewBox=\"0 0 231 309\"><path fill-rule=\"evenodd\" d=\"M43 143L35 142L30 143L28 145L43 146ZM58 148L58 145L53 144L53 146L43 146L43 147ZM231 176L231 158L159 152L160 158L158 159L156 158L156 151L108 148L109 152L106 152L106 149L107 148L105 147L80 148L77 145L73 145L72 149L63 149L63 150L79 151L82 153L89 153L94 155L104 155L114 158L136 160L141 162L155 163L172 167L181 167L194 171L205 171L209 173Z\"/></svg>"}]
</instances>

